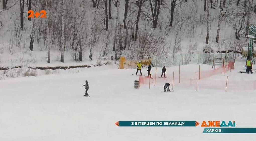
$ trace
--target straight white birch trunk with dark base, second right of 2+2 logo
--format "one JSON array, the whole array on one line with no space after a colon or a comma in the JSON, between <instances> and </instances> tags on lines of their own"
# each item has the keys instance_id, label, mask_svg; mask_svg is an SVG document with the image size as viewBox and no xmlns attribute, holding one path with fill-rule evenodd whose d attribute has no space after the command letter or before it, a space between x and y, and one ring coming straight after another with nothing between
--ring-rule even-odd
<instances>
[{"instance_id":1,"label":"straight white birch trunk with dark base, second right of 2+2 logo","mask_svg":"<svg viewBox=\"0 0 256 141\"><path fill-rule=\"evenodd\" d=\"M61 2L61 49L60 49L60 62L64 62L64 42L65 42L65 21L64 21L64 0Z\"/></svg>"}]
</instances>

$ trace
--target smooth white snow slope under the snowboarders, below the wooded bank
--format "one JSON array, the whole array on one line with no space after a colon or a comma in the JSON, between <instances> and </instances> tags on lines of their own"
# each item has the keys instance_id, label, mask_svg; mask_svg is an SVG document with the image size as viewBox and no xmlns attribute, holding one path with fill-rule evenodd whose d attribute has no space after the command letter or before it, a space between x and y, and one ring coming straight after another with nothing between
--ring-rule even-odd
<instances>
[{"instance_id":1,"label":"smooth white snow slope under the snowboarders, below the wooded bank","mask_svg":"<svg viewBox=\"0 0 256 141\"><path fill-rule=\"evenodd\" d=\"M150 89L147 84L134 89L138 76L131 74L136 70L110 65L84 68L74 74L0 80L0 140L253 140L255 134L202 134L204 127L200 127L208 120L234 120L236 127L256 127L255 90L242 84L242 80L253 82L256 74L237 73L243 64L236 61L231 72L198 80L215 86L218 81L226 82L228 76L237 85L228 86L227 92L225 87L199 87L196 91L194 86L183 87L175 80L174 92L161 93L164 83L172 82L161 78L156 79L156 86L151 79ZM171 78L178 69L167 68L167 76ZM196 74L198 65L183 65L180 69ZM212 70L212 66L201 65L200 69ZM160 70L157 68L157 76ZM146 74L146 68L142 73ZM154 77L155 72L152 74ZM82 96L85 80L89 82L90 97ZM196 120L200 125L118 127L115 123L119 120Z\"/></svg>"}]
</instances>

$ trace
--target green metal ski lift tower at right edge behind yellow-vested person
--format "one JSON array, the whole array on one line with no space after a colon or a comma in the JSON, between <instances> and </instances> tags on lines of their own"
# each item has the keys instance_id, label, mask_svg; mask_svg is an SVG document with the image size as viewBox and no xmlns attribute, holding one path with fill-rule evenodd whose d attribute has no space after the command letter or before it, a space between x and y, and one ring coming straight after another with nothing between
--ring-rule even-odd
<instances>
[{"instance_id":1,"label":"green metal ski lift tower at right edge behind yellow-vested person","mask_svg":"<svg viewBox=\"0 0 256 141\"><path fill-rule=\"evenodd\" d=\"M247 39L250 39L250 45L248 45L248 55L251 57L252 62L255 64L255 51L253 49L253 43L256 43L256 26L249 25L248 35L245 36ZM245 55L245 54L244 54Z\"/></svg>"}]
</instances>

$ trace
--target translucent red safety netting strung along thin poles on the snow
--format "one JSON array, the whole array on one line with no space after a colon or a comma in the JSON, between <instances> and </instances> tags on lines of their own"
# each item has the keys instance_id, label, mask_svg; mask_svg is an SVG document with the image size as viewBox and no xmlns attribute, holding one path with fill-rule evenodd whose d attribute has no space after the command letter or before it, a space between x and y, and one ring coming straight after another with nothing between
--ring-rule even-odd
<instances>
[{"instance_id":1,"label":"translucent red safety netting strung along thin poles on the snow","mask_svg":"<svg viewBox=\"0 0 256 141\"><path fill-rule=\"evenodd\" d=\"M234 69L234 62L223 63L222 66L217 68L212 68L212 70L201 71L200 66L197 72L188 71L173 71L172 74L168 74L169 78L158 78L152 75L153 79L147 78L145 76L139 76L140 85L152 85L152 86L162 86L164 83L168 82L174 87L180 88L191 88L194 90L198 89L211 89L211 90L223 90L223 91L238 91L238 90L254 90L256 89L256 80L248 82L243 81L232 81L226 79L224 74L226 72L231 72ZM216 76L220 77L221 80L215 79ZM250 83L251 85L248 85ZM238 87L239 86L239 87Z\"/></svg>"}]
</instances>

